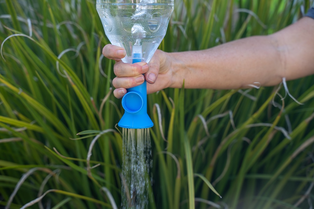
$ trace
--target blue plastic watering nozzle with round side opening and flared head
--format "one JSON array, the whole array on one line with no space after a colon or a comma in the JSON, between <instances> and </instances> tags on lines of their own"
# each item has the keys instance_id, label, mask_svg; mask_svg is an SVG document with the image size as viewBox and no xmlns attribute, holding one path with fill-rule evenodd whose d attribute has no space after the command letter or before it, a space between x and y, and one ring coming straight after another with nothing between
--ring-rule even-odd
<instances>
[{"instance_id":1,"label":"blue plastic watering nozzle with round side opening and flared head","mask_svg":"<svg viewBox=\"0 0 314 209\"><path fill-rule=\"evenodd\" d=\"M142 46L134 45L132 51L133 63L142 61ZM138 58L138 59L137 59ZM119 127L140 129L153 127L153 121L147 114L147 83L127 89L122 98L124 115L118 123Z\"/></svg>"}]
</instances>

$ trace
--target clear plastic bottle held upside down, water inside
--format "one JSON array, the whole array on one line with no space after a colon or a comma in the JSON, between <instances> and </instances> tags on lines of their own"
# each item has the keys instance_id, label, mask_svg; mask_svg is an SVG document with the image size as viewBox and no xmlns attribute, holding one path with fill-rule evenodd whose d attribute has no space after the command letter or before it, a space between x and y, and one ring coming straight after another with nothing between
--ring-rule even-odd
<instances>
[{"instance_id":1,"label":"clear plastic bottle held upside down, water inside","mask_svg":"<svg viewBox=\"0 0 314 209\"><path fill-rule=\"evenodd\" d=\"M111 44L123 47L132 63L133 45L142 45L149 62L164 38L174 9L173 0L97 0L97 12Z\"/></svg>"}]
</instances>

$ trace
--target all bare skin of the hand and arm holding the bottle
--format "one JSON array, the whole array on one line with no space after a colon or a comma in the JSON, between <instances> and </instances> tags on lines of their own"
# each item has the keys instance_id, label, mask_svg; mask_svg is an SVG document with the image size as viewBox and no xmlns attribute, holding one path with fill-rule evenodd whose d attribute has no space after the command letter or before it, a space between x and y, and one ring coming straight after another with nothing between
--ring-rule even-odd
<instances>
[{"instance_id":1,"label":"all bare skin of the hand and arm holding the bottle","mask_svg":"<svg viewBox=\"0 0 314 209\"><path fill-rule=\"evenodd\" d=\"M123 48L108 44L103 54L116 61L114 95L146 80L147 93L164 88L235 89L277 85L314 73L314 19L305 17L272 35L252 36L207 50L166 53L157 50L149 62L123 63ZM144 76L142 75L144 74Z\"/></svg>"}]
</instances>

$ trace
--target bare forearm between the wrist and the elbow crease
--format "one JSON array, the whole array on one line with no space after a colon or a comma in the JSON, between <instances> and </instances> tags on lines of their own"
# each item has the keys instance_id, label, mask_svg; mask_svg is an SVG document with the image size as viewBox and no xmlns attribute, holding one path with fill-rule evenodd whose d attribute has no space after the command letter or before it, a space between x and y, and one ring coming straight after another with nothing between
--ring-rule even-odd
<instances>
[{"instance_id":1,"label":"bare forearm between the wrist and the elbow crease","mask_svg":"<svg viewBox=\"0 0 314 209\"><path fill-rule=\"evenodd\" d=\"M280 53L269 36L255 36L208 50L172 53L173 85L186 88L230 89L281 80Z\"/></svg>"}]
</instances>

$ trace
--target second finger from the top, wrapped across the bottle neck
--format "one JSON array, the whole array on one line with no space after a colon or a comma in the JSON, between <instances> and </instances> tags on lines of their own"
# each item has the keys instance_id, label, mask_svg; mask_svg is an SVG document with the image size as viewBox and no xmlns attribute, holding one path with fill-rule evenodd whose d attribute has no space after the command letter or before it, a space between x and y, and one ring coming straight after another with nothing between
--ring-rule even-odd
<instances>
[{"instance_id":1,"label":"second finger from the top, wrapped across the bottle neck","mask_svg":"<svg viewBox=\"0 0 314 209\"><path fill-rule=\"evenodd\" d=\"M134 64L117 62L113 71L117 77L132 77L148 72L149 66L146 62L138 62Z\"/></svg>"}]
</instances>

